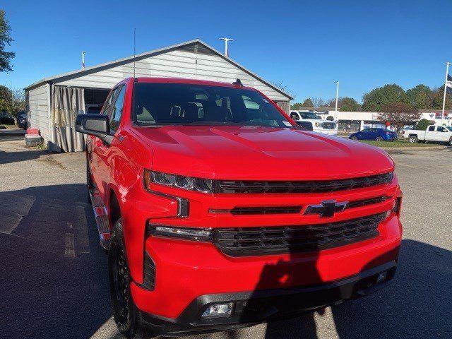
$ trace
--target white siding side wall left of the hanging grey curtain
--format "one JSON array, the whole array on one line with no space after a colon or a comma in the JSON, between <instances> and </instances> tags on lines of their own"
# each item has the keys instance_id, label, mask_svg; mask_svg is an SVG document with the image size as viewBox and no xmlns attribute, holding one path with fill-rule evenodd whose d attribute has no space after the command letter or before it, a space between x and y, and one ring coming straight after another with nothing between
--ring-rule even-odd
<instances>
[{"instance_id":1,"label":"white siding side wall left of the hanging grey curtain","mask_svg":"<svg viewBox=\"0 0 452 339\"><path fill-rule=\"evenodd\" d=\"M49 107L49 88L47 83L40 85L40 87L28 90L28 116L30 117L30 127L39 129L42 138L44 138L44 145L50 141L50 107Z\"/></svg>"}]
</instances>

